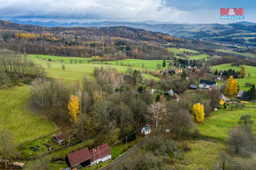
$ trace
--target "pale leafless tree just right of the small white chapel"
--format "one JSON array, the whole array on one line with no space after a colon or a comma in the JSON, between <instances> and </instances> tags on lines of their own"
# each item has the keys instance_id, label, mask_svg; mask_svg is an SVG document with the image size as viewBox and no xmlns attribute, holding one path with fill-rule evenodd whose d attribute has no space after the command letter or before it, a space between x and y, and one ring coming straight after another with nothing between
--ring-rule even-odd
<instances>
[{"instance_id":1,"label":"pale leafless tree just right of the small white chapel","mask_svg":"<svg viewBox=\"0 0 256 170\"><path fill-rule=\"evenodd\" d=\"M153 103L150 107L148 107L148 112L151 114L150 119L154 121L155 129L154 129L154 135L157 132L157 129L159 128L159 125L164 123L167 119L167 108L165 104L161 102Z\"/></svg>"}]
</instances>

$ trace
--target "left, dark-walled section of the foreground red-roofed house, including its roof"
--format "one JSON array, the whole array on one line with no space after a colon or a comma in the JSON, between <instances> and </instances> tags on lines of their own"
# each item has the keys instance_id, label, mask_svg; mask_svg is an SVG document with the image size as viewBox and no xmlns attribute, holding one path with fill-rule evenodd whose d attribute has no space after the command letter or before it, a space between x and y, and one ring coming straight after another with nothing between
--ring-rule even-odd
<instances>
[{"instance_id":1,"label":"left, dark-walled section of the foreground red-roofed house, including its roof","mask_svg":"<svg viewBox=\"0 0 256 170\"><path fill-rule=\"evenodd\" d=\"M65 161L68 166L74 168L76 166L89 166L91 164L92 156L88 148L79 150L78 152L70 153L66 156Z\"/></svg>"}]
</instances>

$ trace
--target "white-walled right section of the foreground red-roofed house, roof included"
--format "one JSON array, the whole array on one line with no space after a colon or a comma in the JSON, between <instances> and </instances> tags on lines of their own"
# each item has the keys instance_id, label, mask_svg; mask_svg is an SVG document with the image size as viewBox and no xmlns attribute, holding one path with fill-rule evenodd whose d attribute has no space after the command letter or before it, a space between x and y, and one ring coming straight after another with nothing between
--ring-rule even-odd
<instances>
[{"instance_id":1,"label":"white-walled right section of the foreground red-roofed house, roof included","mask_svg":"<svg viewBox=\"0 0 256 170\"><path fill-rule=\"evenodd\" d=\"M102 144L89 151L91 154L91 165L96 165L111 159L109 144Z\"/></svg>"}]
</instances>

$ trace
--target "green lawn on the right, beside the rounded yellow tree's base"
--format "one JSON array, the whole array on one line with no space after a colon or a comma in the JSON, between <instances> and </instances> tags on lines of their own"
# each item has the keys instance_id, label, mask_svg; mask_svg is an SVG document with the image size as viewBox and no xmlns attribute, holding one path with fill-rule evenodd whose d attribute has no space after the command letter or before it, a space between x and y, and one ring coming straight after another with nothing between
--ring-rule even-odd
<instances>
[{"instance_id":1,"label":"green lawn on the right, beside the rounded yellow tree's base","mask_svg":"<svg viewBox=\"0 0 256 170\"><path fill-rule=\"evenodd\" d=\"M204 122L198 124L200 132L202 135L208 137L216 137L221 140L225 140L231 128L237 126L237 122L241 115L250 114L252 115L252 120L254 122L254 126L252 127L253 132L256 132L256 107L253 105L247 105L243 109L220 109L215 111L210 117L207 117Z\"/></svg>"}]
</instances>

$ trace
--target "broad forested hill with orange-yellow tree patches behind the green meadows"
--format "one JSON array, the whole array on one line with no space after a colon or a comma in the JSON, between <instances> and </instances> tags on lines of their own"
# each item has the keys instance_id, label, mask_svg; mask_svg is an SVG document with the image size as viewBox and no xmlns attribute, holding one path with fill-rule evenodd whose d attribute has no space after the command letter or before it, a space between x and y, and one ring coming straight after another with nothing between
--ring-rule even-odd
<instances>
[{"instance_id":1,"label":"broad forested hill with orange-yellow tree patches behind the green meadows","mask_svg":"<svg viewBox=\"0 0 256 170\"><path fill-rule=\"evenodd\" d=\"M184 40L164 33L113 27L43 27L0 21L0 48L21 53L67 55L105 59L162 59L168 57L164 46Z\"/></svg>"}]
</instances>

